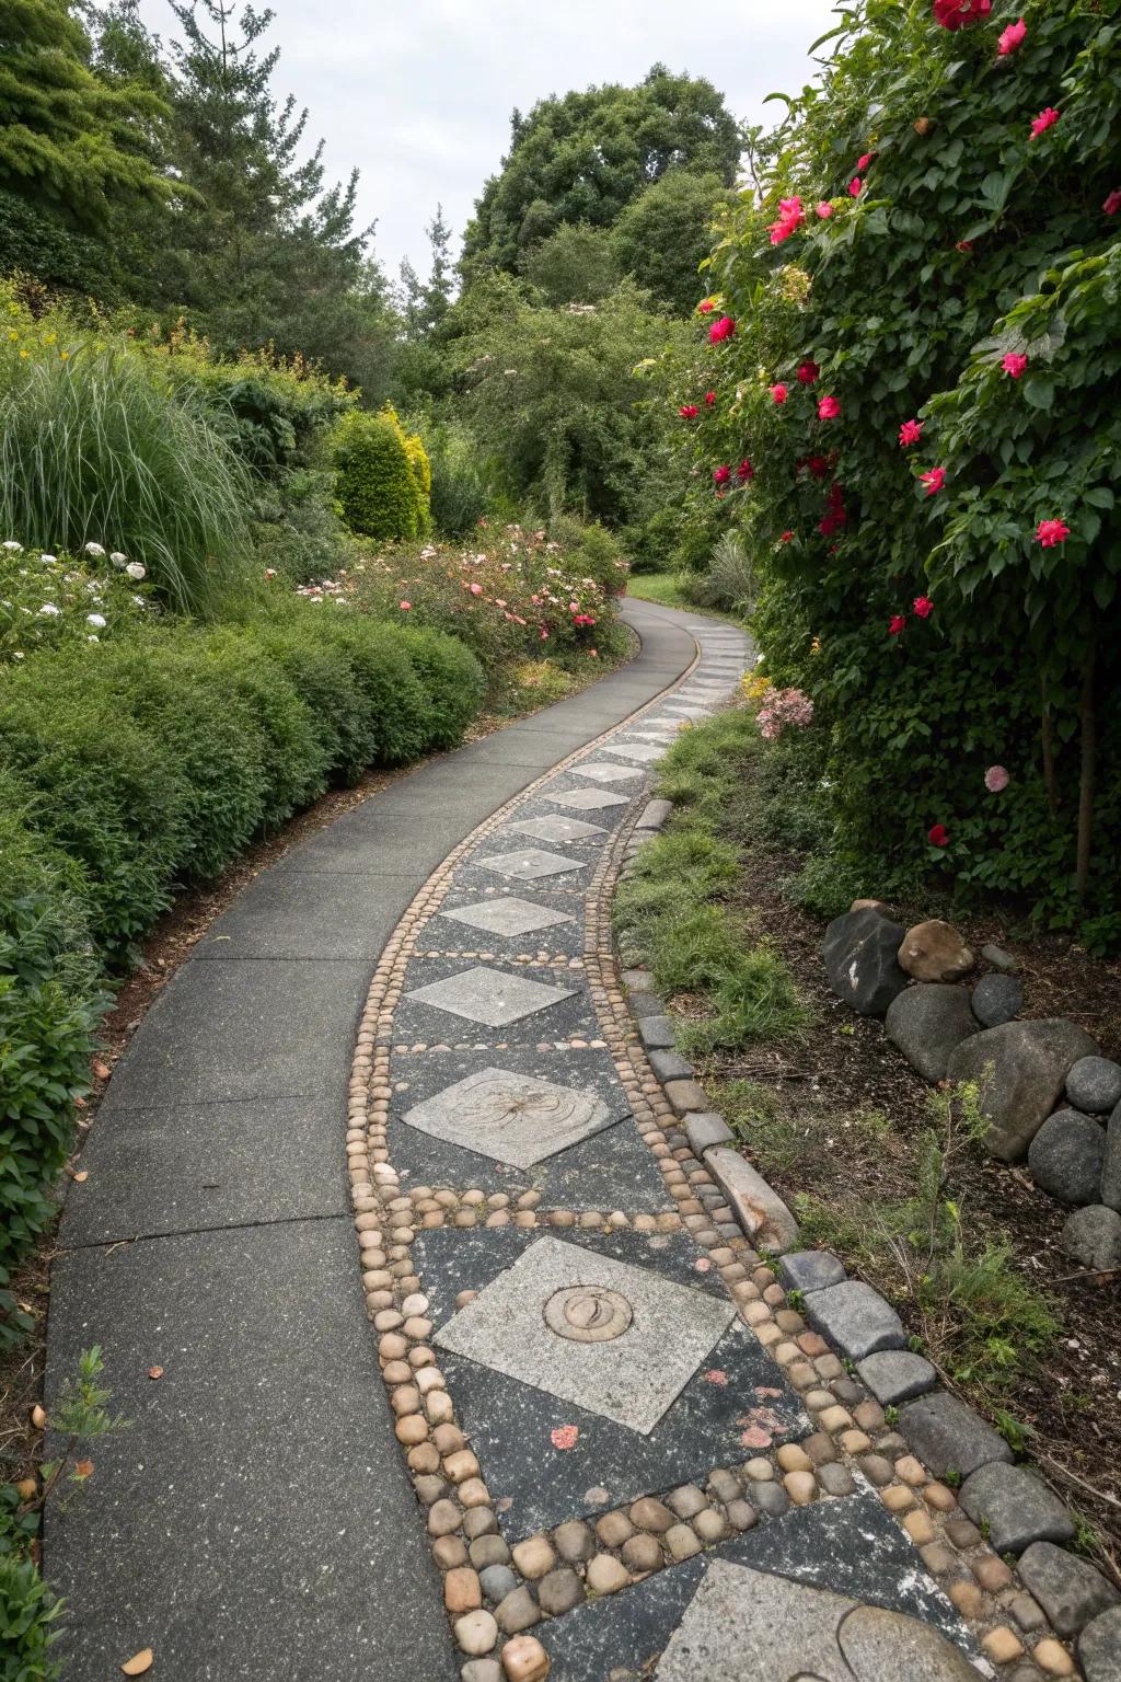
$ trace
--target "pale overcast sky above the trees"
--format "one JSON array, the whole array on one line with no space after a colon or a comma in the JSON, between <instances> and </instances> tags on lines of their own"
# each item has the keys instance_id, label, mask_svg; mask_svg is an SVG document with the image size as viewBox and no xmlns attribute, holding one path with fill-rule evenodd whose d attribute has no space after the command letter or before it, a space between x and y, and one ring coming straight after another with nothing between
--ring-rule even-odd
<instances>
[{"instance_id":1,"label":"pale overcast sky above the trees","mask_svg":"<svg viewBox=\"0 0 1121 1682\"><path fill-rule=\"evenodd\" d=\"M331 175L361 172L360 212L392 276L427 269L437 202L462 234L509 143L509 114L593 82L640 81L655 62L706 76L734 116L765 121L775 87L812 74L807 47L832 0L272 0L279 94L309 108ZM166 0L141 0L165 39ZM457 246L459 249L459 239Z\"/></svg>"}]
</instances>

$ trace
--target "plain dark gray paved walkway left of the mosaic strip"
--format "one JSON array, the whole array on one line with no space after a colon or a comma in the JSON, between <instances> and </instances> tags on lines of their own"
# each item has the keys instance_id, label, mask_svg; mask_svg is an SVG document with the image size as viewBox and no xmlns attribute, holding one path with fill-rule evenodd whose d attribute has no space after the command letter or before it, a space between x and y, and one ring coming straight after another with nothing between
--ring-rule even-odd
<instances>
[{"instance_id":1,"label":"plain dark gray paved walkway left of the mosaic strip","mask_svg":"<svg viewBox=\"0 0 1121 1682\"><path fill-rule=\"evenodd\" d=\"M455 1674L371 1388L339 1149L353 1043L376 957L440 861L692 664L676 616L625 617L630 664L402 777L257 878L118 1063L52 1270L47 1406L101 1344L131 1421L47 1515L67 1682L143 1647L182 1679Z\"/></svg>"}]
</instances>

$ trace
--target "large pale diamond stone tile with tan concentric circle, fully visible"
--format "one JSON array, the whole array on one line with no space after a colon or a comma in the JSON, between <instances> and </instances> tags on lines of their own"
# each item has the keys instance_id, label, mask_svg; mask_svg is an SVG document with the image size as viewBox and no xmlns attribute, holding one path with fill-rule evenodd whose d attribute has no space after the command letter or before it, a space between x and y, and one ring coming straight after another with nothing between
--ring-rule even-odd
<instances>
[{"instance_id":1,"label":"large pale diamond stone tile with tan concentric circle, fully visible","mask_svg":"<svg viewBox=\"0 0 1121 1682\"><path fill-rule=\"evenodd\" d=\"M593 1304L610 1304L624 1329L587 1342L558 1334L546 1305L578 1287ZM719 1297L582 1245L539 1238L434 1342L649 1436L733 1319L733 1304Z\"/></svg>"}]
</instances>

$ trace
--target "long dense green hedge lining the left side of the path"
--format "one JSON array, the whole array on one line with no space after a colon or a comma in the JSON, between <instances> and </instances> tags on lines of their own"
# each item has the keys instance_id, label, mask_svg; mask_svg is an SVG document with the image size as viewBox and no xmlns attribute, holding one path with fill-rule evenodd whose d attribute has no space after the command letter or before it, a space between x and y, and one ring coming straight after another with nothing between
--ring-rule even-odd
<instances>
[{"instance_id":1,"label":"long dense green hedge lining the left side of the path","mask_svg":"<svg viewBox=\"0 0 1121 1682\"><path fill-rule=\"evenodd\" d=\"M450 637L303 602L0 676L0 1292L52 1213L104 972L329 782L452 747L482 693Z\"/></svg>"}]
</instances>

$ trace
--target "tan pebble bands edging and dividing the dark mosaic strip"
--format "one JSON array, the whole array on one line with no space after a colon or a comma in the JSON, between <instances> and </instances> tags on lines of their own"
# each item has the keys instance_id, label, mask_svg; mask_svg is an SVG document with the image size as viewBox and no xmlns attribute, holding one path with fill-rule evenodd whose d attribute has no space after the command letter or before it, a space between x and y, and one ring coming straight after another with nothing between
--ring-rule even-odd
<instances>
[{"instance_id":1,"label":"tan pebble bands edging and dividing the dark mosaic strip","mask_svg":"<svg viewBox=\"0 0 1121 1682\"><path fill-rule=\"evenodd\" d=\"M561 1615L585 1598L624 1591L655 1569L782 1515L790 1505L837 1499L869 1487L879 1492L884 1507L918 1546L926 1569L973 1626L982 1653L1003 1679L1037 1682L1040 1675L1074 1675L1071 1655L1050 1633L1044 1611L1017 1584L982 1529L965 1515L955 1490L916 1458L904 1436L892 1428L884 1404L850 1376L825 1337L790 1304L776 1270L751 1248L745 1219L756 1236L766 1226L758 1221L758 1211L750 1211L741 1191L726 1191L709 1171L713 1145L706 1147L699 1134L706 1112L689 1102L701 1088L682 1080L679 1087L691 1087L692 1092L674 1092L674 1082L664 1085L647 1058L615 967L610 902L627 856L634 856L659 817L664 821L667 816L666 802L650 802L654 809L625 819L600 854L585 898L583 967L602 1039L568 1045L605 1046L610 1051L635 1125L659 1164L676 1209L660 1214L543 1209L536 1191L511 1198L477 1189L413 1186L403 1193L388 1159L390 1056L393 1051L429 1050L393 1043L393 1013L405 967L417 955L418 932L439 910L452 871L471 848L508 822L511 811L558 770L659 706L691 676L697 659L699 651L677 685L550 767L444 860L387 942L356 1034L348 1087L346 1159L366 1314L378 1334L397 1440L425 1510L432 1558L442 1573L444 1603L464 1660L462 1682L501 1682L503 1677L508 1682L539 1682L548 1675L550 1658L528 1630L541 1620ZM491 954L474 955L486 959ZM815 1425L813 1433L800 1445L785 1443L770 1453L756 1453L736 1470L714 1468L704 1489L689 1484L664 1497L642 1497L595 1521L566 1521L511 1549L499 1534L479 1462L455 1421L430 1344L434 1324L427 1317L429 1300L412 1258L417 1231L506 1224L647 1233L686 1228L706 1251L699 1265L708 1262L719 1272L741 1320L783 1367ZM457 1305L471 1295L461 1293ZM497 1583L492 1576L487 1581L484 1574L496 1571L504 1576ZM496 1586L504 1589L501 1600L496 1600ZM496 1601L494 1611L482 1605L484 1588L486 1598Z\"/></svg>"}]
</instances>

